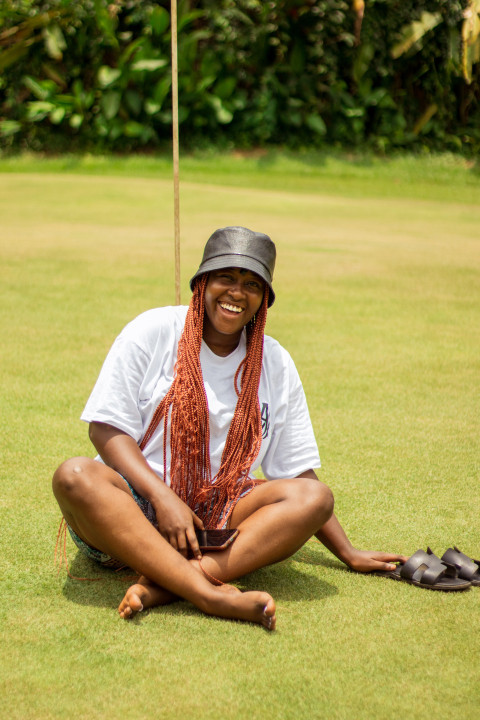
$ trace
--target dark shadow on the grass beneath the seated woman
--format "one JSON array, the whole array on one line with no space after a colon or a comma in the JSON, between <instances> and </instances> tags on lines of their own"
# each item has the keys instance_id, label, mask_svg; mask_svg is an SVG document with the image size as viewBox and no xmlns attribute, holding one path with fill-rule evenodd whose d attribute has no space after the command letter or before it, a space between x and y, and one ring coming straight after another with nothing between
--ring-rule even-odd
<instances>
[{"instance_id":1,"label":"dark shadow on the grass beneath the seated woman","mask_svg":"<svg viewBox=\"0 0 480 720\"><path fill-rule=\"evenodd\" d=\"M292 559L277 565L262 568L235 583L242 591L264 590L276 601L311 602L323 600L337 594L337 588L324 580L302 572L299 562L309 565L340 567L320 562L319 553L308 546L302 548ZM77 578L67 577L62 592L67 600L78 605L116 608L128 587L135 582L132 571L114 572L99 568L94 562L78 552L70 565L70 573ZM191 612L190 612L191 611ZM197 613L190 604L177 602L161 608L161 612L174 614Z\"/></svg>"}]
</instances>

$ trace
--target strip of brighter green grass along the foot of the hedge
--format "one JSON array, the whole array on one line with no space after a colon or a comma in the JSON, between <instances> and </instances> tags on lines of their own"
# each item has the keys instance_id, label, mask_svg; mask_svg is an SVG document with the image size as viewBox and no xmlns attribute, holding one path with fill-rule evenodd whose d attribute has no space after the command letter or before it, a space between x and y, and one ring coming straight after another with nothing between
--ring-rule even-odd
<instances>
[{"instance_id":1,"label":"strip of brighter green grass along the foot of the hedge","mask_svg":"<svg viewBox=\"0 0 480 720\"><path fill-rule=\"evenodd\" d=\"M342 196L417 198L475 203L480 165L454 154L333 155L271 151L212 154L198 152L181 157L181 178L204 184L288 190L293 193L335 193ZM2 172L68 172L81 175L162 178L170 180L169 156L62 155L48 158L25 154L0 158Z\"/></svg>"}]
</instances>

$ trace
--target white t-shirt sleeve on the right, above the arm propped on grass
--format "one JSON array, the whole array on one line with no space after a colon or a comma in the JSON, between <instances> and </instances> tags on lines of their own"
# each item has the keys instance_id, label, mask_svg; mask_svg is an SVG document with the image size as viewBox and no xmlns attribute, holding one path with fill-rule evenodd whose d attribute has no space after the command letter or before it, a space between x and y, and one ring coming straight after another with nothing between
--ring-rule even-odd
<instances>
[{"instance_id":1,"label":"white t-shirt sleeve on the right, above the arm propped on grass","mask_svg":"<svg viewBox=\"0 0 480 720\"><path fill-rule=\"evenodd\" d=\"M262 471L268 480L294 478L305 470L320 467L303 385L292 358L283 352L283 400L277 408L272 438L262 460Z\"/></svg>"}]
</instances>

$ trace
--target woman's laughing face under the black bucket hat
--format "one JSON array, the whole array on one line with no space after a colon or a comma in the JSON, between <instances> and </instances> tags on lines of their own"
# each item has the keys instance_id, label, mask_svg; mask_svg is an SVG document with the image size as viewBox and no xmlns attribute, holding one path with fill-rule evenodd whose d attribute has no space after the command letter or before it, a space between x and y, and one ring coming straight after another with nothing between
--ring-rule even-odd
<instances>
[{"instance_id":1,"label":"woman's laughing face under the black bucket hat","mask_svg":"<svg viewBox=\"0 0 480 720\"><path fill-rule=\"evenodd\" d=\"M205 288L204 339L240 336L260 309L265 282L259 275L240 268L213 270Z\"/></svg>"}]
</instances>

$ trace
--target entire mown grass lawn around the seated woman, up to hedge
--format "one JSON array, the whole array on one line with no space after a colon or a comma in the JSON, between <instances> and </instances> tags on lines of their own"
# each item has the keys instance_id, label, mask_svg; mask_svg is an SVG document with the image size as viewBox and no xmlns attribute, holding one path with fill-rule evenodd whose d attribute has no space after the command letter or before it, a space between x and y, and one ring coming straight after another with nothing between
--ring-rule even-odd
<instances>
[{"instance_id":1,"label":"entire mown grass lawn around the seated woman, up to hedge","mask_svg":"<svg viewBox=\"0 0 480 720\"><path fill-rule=\"evenodd\" d=\"M451 156L182 160L182 299L203 244L277 243L267 332L293 355L354 544L480 556L480 176ZM187 603L132 622L126 580L68 540L50 478L93 454L78 417L138 313L171 304L168 160L0 160L0 717L335 720L479 716L480 588L355 575L317 542L244 578L278 630Z\"/></svg>"}]
</instances>

